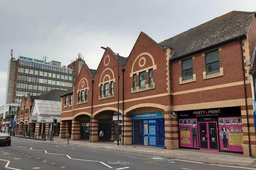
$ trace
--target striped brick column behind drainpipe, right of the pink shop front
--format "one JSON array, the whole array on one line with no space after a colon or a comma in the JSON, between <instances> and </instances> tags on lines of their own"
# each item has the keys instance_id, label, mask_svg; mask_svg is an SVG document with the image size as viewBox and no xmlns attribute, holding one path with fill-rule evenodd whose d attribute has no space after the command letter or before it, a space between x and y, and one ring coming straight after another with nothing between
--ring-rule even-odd
<instances>
[{"instance_id":1,"label":"striped brick column behind drainpipe, right of the pink shop front","mask_svg":"<svg viewBox=\"0 0 256 170\"><path fill-rule=\"evenodd\" d=\"M255 127L254 127L254 118L252 113L252 106L248 106L248 121L249 121L249 130L250 130L250 144L252 155L256 156L256 137L255 137ZM249 133L248 133L248 124L247 124L247 115L246 115L246 106L241 106L241 115L242 115L242 128L244 136L244 156L249 156Z\"/></svg>"}]
</instances>

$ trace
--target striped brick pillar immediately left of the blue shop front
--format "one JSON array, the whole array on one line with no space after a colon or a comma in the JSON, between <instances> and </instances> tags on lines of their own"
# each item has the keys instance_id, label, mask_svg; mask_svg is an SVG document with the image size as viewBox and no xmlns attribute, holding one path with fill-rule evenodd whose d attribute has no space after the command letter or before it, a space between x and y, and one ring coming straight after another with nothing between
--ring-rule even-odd
<instances>
[{"instance_id":1,"label":"striped brick pillar immediately left of the blue shop front","mask_svg":"<svg viewBox=\"0 0 256 170\"><path fill-rule=\"evenodd\" d=\"M132 145L132 115L124 115L124 127L122 127L122 133L124 128L124 135L122 134L122 140L124 145ZM123 141L121 141L123 143Z\"/></svg>"}]
</instances>

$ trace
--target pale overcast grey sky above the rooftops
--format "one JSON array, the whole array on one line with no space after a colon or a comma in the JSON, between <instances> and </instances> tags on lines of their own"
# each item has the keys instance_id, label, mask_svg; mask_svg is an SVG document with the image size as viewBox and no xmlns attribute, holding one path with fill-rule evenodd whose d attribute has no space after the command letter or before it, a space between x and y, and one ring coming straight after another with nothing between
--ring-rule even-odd
<instances>
[{"instance_id":1,"label":"pale overcast grey sky above the rooftops","mask_svg":"<svg viewBox=\"0 0 256 170\"><path fill-rule=\"evenodd\" d=\"M232 10L255 11L256 0L0 0L0 106L11 49L63 65L82 53L96 69L101 46L127 57L140 31L159 43Z\"/></svg>"}]
</instances>

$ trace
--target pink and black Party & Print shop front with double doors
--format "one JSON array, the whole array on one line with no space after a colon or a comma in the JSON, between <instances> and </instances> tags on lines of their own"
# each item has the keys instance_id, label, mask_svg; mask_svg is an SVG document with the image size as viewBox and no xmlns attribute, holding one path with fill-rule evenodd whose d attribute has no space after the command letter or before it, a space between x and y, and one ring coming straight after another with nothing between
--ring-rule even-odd
<instances>
[{"instance_id":1,"label":"pink and black Party & Print shop front with double doors","mask_svg":"<svg viewBox=\"0 0 256 170\"><path fill-rule=\"evenodd\" d=\"M179 147L243 152L240 107L178 111Z\"/></svg>"}]
</instances>

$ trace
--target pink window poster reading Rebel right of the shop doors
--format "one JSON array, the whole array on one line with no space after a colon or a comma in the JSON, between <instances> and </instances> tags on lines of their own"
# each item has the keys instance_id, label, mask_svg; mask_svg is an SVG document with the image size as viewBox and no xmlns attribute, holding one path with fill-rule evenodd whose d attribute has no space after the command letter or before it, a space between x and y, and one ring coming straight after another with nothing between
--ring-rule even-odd
<instances>
[{"instance_id":1,"label":"pink window poster reading Rebel right of the shop doors","mask_svg":"<svg viewBox=\"0 0 256 170\"><path fill-rule=\"evenodd\" d=\"M243 130L241 117L219 117L220 150L243 152Z\"/></svg>"}]
</instances>

